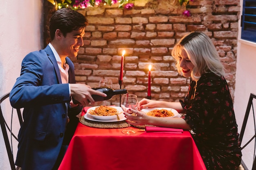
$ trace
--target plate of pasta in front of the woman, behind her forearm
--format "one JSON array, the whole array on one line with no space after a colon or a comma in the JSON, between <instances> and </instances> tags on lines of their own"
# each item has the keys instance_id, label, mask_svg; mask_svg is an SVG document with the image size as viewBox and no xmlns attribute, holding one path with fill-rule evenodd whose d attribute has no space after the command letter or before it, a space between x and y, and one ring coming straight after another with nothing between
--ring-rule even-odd
<instances>
[{"instance_id":1,"label":"plate of pasta in front of the woman, behind her forearm","mask_svg":"<svg viewBox=\"0 0 256 170\"><path fill-rule=\"evenodd\" d=\"M173 108L144 108L141 111L153 117L181 117Z\"/></svg>"}]
</instances>

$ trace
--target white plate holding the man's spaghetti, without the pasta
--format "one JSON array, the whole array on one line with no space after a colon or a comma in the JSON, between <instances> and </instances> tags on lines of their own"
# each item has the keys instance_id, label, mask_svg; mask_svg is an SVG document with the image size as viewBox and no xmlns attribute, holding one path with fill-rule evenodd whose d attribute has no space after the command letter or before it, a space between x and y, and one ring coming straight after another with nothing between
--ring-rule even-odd
<instances>
[{"instance_id":1,"label":"white plate holding the man's spaghetti, without the pasta","mask_svg":"<svg viewBox=\"0 0 256 170\"><path fill-rule=\"evenodd\" d=\"M95 108L97 108L99 106L95 106L95 107L91 107L87 110L86 114L84 115L85 119L88 120L92 120L92 121L105 121L105 122L112 122L112 121L123 121L126 120L126 118L124 117L124 111L122 110L121 107L117 107L117 106L110 106L112 108L116 108L117 111L119 112L119 118L120 120L117 120L117 115L112 115L112 116L97 116L97 115L91 115L89 113L89 110L95 110Z\"/></svg>"}]
</instances>

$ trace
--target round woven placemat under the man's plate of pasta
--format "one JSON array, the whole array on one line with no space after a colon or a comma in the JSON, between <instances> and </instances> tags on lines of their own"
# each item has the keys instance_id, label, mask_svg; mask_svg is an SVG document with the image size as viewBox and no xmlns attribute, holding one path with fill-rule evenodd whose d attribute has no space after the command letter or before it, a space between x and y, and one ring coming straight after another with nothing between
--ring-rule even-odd
<instances>
[{"instance_id":1,"label":"round woven placemat under the man's plate of pasta","mask_svg":"<svg viewBox=\"0 0 256 170\"><path fill-rule=\"evenodd\" d=\"M85 119L83 116L79 118L79 121L86 126L93 128L127 128L128 123L126 121L112 121L112 122L102 122L102 121L92 121Z\"/></svg>"}]
</instances>

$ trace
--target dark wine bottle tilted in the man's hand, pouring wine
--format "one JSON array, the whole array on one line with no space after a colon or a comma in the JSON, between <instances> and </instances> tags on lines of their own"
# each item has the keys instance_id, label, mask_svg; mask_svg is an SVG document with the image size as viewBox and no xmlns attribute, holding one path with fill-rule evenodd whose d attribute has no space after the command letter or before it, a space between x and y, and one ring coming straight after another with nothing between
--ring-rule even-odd
<instances>
[{"instance_id":1,"label":"dark wine bottle tilted in the man's hand, pouring wine","mask_svg":"<svg viewBox=\"0 0 256 170\"><path fill-rule=\"evenodd\" d=\"M109 88L109 87L95 87L95 88L92 88L92 89L96 90L96 91L100 91L100 92L105 93L107 95L106 97L102 97L100 95L92 95L92 98L94 99L95 102L109 100L114 95L121 95L121 94L126 94L127 93L126 88L114 90L114 89ZM72 100L73 100L74 104L79 104L79 102L77 100L75 100L74 98ZM88 100L88 102L90 102L90 101Z\"/></svg>"}]
</instances>

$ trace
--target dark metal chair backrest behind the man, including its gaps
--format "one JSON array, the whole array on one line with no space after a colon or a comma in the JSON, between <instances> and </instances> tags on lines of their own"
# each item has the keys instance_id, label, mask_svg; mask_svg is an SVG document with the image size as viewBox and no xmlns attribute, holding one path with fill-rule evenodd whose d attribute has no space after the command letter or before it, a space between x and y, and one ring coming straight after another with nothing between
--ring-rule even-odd
<instances>
[{"instance_id":1,"label":"dark metal chair backrest behind the man, including its gaps","mask_svg":"<svg viewBox=\"0 0 256 170\"><path fill-rule=\"evenodd\" d=\"M8 154L11 170L15 170L16 168L14 165L13 147L12 147L13 141L12 140L16 139L18 141L18 138L17 138L18 135L14 135L14 132L13 132L14 130L13 130L12 125L18 123L17 121L13 121L14 118L18 117L19 127L20 127L21 124L23 123L23 119L22 119L20 109L19 108L14 109L11 107L11 104L9 101L9 95L10 95L10 93L7 93L7 94L3 95L2 97L0 97L0 125L1 125L1 129L2 129L4 143L5 143L5 146L7 149L7 154ZM3 112L8 109L9 109L9 111L11 111L11 114L9 114L9 113L3 114ZM17 115L14 115L14 112L16 112ZM9 134L9 136L8 136L8 134Z\"/></svg>"}]
</instances>

